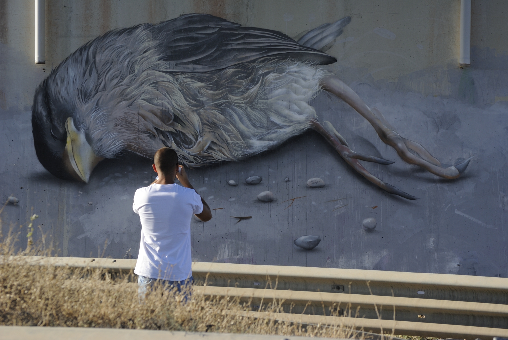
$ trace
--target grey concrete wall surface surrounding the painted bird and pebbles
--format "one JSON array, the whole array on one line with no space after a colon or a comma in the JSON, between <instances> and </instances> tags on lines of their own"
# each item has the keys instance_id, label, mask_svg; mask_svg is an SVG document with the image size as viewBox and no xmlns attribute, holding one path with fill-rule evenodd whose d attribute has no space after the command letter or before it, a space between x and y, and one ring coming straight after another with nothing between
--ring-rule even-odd
<instances>
[{"instance_id":1,"label":"grey concrete wall surface surrounding the painted bird and pebbles","mask_svg":"<svg viewBox=\"0 0 508 340\"><path fill-rule=\"evenodd\" d=\"M113 28L185 13L213 14L291 37L351 16L327 51L338 60L330 69L382 110L403 137L424 144L443 164L473 156L465 176L443 180L403 163L365 119L323 93L311 101L320 120L332 122L355 150L396 160L366 167L420 199L409 202L373 187L322 137L308 132L241 163L189 171L212 208L224 208L214 210L210 222L193 221L194 259L508 274L508 3L473 0L472 66L464 69L458 68L459 0L48 1L46 6L46 64L35 65L33 2L0 1L0 188L4 198L14 194L20 200L2 212L4 233L10 224L25 223L33 207L64 256L97 254L106 239L107 256L137 256L140 224L131 204L135 190L153 178L149 160L134 154L106 160L81 184L52 177L35 155L34 90L82 44ZM262 183L243 184L253 174ZM327 186L306 187L311 177L323 178ZM230 179L240 185L228 187ZM264 190L274 193L274 202L256 200ZM287 208L284 201L300 196L305 197ZM329 202L337 199L344 200ZM231 215L252 219L236 223ZM374 232L361 229L367 217L377 219ZM25 228L21 231L23 245ZM312 252L293 245L305 234L323 239Z\"/></svg>"}]
</instances>

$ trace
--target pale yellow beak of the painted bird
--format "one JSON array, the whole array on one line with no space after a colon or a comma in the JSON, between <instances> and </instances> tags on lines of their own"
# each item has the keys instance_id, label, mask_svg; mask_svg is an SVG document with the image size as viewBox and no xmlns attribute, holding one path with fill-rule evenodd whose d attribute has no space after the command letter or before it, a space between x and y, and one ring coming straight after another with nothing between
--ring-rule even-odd
<instances>
[{"instance_id":1,"label":"pale yellow beak of the painted bird","mask_svg":"<svg viewBox=\"0 0 508 340\"><path fill-rule=\"evenodd\" d=\"M85 133L76 129L71 117L67 118L65 129L67 130L67 145L63 151L63 161L74 178L88 183L93 168L104 158L93 153L90 144L86 141Z\"/></svg>"}]
</instances>

